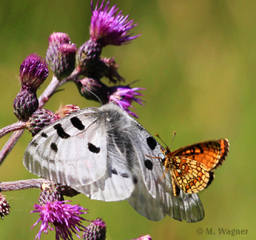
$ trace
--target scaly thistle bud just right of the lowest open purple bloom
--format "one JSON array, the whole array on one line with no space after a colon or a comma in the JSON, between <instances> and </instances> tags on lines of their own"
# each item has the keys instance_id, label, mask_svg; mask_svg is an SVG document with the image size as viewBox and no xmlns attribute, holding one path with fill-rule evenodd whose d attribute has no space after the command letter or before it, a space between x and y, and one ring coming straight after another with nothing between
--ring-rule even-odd
<instances>
[{"instance_id":1,"label":"scaly thistle bud just right of the lowest open purple bloom","mask_svg":"<svg viewBox=\"0 0 256 240\"><path fill-rule=\"evenodd\" d=\"M105 240L106 239L106 223L102 218L97 218L86 226L86 230L82 235L84 240Z\"/></svg>"}]
</instances>

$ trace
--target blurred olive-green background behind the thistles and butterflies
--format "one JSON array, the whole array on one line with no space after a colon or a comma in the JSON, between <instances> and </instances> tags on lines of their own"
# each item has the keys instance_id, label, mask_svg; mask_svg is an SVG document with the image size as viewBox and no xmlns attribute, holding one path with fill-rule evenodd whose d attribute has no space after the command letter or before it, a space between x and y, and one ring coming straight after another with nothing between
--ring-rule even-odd
<instances>
[{"instance_id":1,"label":"blurred olive-green background behind the thistles and butterflies","mask_svg":"<svg viewBox=\"0 0 256 240\"><path fill-rule=\"evenodd\" d=\"M95 2L94 2L95 3ZM134 86L146 87L146 107L138 106L138 122L165 142L177 135L172 150L203 140L228 138L230 154L216 170L213 184L199 194L206 217L197 223L178 222L166 216L159 222L139 215L126 201L92 201L82 194L73 198L90 210L86 218L103 218L107 239L227 239L218 228L248 230L238 239L252 239L255 230L255 116L256 116L256 2L245 1L111 1L138 22L134 34L142 36L126 46L103 51L115 57L119 73ZM20 86L19 66L30 53L45 57L53 31L70 35L81 46L89 38L90 1L0 2L0 124L16 122L13 100ZM50 82L52 74L38 95ZM46 108L61 103L99 106L78 94L72 82L55 94ZM7 139L0 139L4 146ZM26 131L0 168L0 181L34 178L22 165L30 141ZM0 221L0 239L34 239L30 230L38 214L30 214L39 190L5 192L11 212ZM198 234L198 228L203 233ZM206 234L212 228L215 234ZM74 238L76 238L74 236ZM54 233L41 239L54 239Z\"/></svg>"}]
</instances>

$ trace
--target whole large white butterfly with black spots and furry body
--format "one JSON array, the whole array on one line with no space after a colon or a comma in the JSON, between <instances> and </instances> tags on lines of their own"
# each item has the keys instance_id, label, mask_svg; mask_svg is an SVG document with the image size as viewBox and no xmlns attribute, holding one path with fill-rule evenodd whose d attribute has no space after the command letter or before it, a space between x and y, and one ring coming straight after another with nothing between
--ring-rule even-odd
<instances>
[{"instance_id":1,"label":"whole large white butterfly with black spots and furry body","mask_svg":"<svg viewBox=\"0 0 256 240\"><path fill-rule=\"evenodd\" d=\"M166 214L197 222L204 217L197 194L174 197L170 173L158 159L159 143L113 103L78 110L46 126L29 143L30 172L102 201L127 199L154 221ZM159 181L162 178L162 181Z\"/></svg>"}]
</instances>

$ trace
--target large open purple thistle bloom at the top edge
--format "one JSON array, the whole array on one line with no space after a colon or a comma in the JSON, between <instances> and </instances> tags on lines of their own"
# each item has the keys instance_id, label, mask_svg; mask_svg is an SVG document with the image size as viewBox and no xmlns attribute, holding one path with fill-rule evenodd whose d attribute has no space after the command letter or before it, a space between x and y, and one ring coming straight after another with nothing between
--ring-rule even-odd
<instances>
[{"instance_id":1,"label":"large open purple thistle bloom at the top edge","mask_svg":"<svg viewBox=\"0 0 256 240\"><path fill-rule=\"evenodd\" d=\"M98 2L93 10L93 0L91 0L92 17L90 20L90 38L94 42L100 42L102 46L115 45L120 46L131 40L138 38L140 34L131 36L130 30L137 25L134 20L129 21L129 15L124 17L122 11L118 14L118 8L114 5L111 9L110 2L102 1L98 8Z\"/></svg>"}]
</instances>

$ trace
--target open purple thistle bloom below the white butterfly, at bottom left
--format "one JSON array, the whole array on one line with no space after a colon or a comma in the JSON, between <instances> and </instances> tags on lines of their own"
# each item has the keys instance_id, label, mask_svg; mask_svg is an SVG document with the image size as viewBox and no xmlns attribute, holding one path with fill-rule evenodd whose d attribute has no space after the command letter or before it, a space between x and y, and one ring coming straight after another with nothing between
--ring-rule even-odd
<instances>
[{"instance_id":1,"label":"open purple thistle bloom below the white butterfly, at bottom left","mask_svg":"<svg viewBox=\"0 0 256 240\"><path fill-rule=\"evenodd\" d=\"M46 202L45 205L40 206L34 204L34 211L31 213L39 213L40 218L34 223L32 228L42 221L40 230L35 238L40 239L42 231L48 234L49 230L56 231L56 239L73 239L72 233L76 234L79 238L78 232L80 230L86 230L85 226L82 226L81 221L85 220L80 214L87 214L86 209L78 205L65 204L70 201L56 201Z\"/></svg>"}]
</instances>

